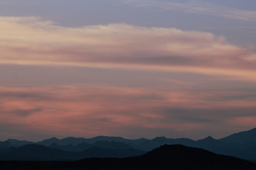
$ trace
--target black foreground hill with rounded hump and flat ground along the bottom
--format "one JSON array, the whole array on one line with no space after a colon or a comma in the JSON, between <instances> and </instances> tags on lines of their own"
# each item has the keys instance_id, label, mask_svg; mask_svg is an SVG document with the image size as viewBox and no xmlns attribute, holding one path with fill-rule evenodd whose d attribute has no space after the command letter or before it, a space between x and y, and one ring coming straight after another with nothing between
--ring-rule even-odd
<instances>
[{"instance_id":1,"label":"black foreground hill with rounded hump and flat ground along the bottom","mask_svg":"<svg viewBox=\"0 0 256 170\"><path fill-rule=\"evenodd\" d=\"M0 169L256 169L256 164L205 149L164 145L137 157L88 158L76 162L0 162Z\"/></svg>"}]
</instances>

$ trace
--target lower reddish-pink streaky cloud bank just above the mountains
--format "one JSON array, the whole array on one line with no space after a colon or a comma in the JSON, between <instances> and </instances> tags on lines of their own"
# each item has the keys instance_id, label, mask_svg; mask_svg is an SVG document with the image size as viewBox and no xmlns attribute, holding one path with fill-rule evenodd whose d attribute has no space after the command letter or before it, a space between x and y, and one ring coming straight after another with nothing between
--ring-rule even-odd
<instances>
[{"instance_id":1,"label":"lower reddish-pink streaky cloud bank just above the mountains","mask_svg":"<svg viewBox=\"0 0 256 170\"><path fill-rule=\"evenodd\" d=\"M100 85L2 86L0 94L4 95L0 105L1 124L21 126L23 128L19 130L23 129L24 135L32 130L60 137L127 134L134 127L138 131L200 131L210 125L209 121L218 121L218 114L222 114L221 119L228 120L234 116L229 114L232 109L253 108L256 105L255 101L245 102L243 99L209 100L221 98L215 92ZM216 112L216 115L208 113L216 108L223 111ZM245 120L240 121L245 123Z\"/></svg>"}]
</instances>

